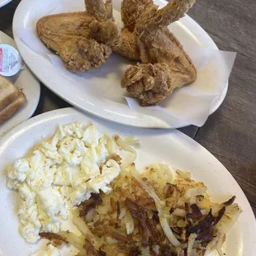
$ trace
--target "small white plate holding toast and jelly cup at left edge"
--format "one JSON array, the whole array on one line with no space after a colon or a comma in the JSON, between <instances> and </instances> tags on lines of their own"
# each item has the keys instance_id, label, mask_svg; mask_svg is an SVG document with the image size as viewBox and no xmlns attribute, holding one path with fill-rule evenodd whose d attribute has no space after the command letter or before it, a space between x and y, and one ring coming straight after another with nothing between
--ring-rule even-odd
<instances>
[{"instance_id":1,"label":"small white plate holding toast and jelly cup at left edge","mask_svg":"<svg viewBox=\"0 0 256 256\"><path fill-rule=\"evenodd\" d=\"M2 33L2 31L0 31L0 44L12 45L17 48L14 40L12 40L10 36ZM23 90L27 102L26 106L22 107L14 116L0 125L0 138L5 135L7 131L19 125L22 121L26 121L26 119L30 118L36 111L40 98L40 83L26 67L24 70L21 70L20 73L17 73L17 75L9 77L8 79L18 88Z\"/></svg>"}]
</instances>

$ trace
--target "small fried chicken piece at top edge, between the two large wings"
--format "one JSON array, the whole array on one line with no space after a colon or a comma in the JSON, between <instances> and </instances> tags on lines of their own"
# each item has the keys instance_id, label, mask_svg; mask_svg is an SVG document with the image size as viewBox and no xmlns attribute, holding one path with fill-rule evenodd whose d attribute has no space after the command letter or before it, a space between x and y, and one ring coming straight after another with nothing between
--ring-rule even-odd
<instances>
[{"instance_id":1,"label":"small fried chicken piece at top edge, between the two large wings","mask_svg":"<svg viewBox=\"0 0 256 256\"><path fill-rule=\"evenodd\" d=\"M121 20L124 23L125 29L133 32L140 14L146 8L153 6L153 4L153 0L123 0L121 2Z\"/></svg>"}]
</instances>

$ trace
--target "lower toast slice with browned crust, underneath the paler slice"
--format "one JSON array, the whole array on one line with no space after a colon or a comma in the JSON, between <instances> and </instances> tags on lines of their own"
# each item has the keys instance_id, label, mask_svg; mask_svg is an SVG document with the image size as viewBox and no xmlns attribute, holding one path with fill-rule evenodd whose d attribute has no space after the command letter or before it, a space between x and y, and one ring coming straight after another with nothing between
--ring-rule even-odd
<instances>
[{"instance_id":1,"label":"lower toast slice with browned crust, underneath the paler slice","mask_svg":"<svg viewBox=\"0 0 256 256\"><path fill-rule=\"evenodd\" d=\"M0 124L13 116L26 103L26 96L23 92L19 92L18 97L2 111L0 111Z\"/></svg>"}]
</instances>

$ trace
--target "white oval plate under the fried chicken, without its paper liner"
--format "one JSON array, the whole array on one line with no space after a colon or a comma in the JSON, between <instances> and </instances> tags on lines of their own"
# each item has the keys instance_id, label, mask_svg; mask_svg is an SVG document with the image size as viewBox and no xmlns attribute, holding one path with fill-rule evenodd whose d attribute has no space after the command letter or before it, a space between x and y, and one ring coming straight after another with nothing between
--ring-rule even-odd
<instances>
[{"instance_id":1,"label":"white oval plate under the fried chicken, without its paper liner","mask_svg":"<svg viewBox=\"0 0 256 256\"><path fill-rule=\"evenodd\" d=\"M121 0L112 0L112 2L114 9L117 11L117 13L119 13L121 10ZM155 0L154 2L159 5L159 7L164 7L166 4L164 0ZM78 3L83 3L83 0L75 0L73 4L76 5ZM73 83L61 72L59 72L58 69L53 69L53 64L49 61L49 59L45 59L41 55L36 55L35 52L29 49L18 36L18 31L29 28L31 26L30 24L33 24L34 26L35 21L49 13L50 10L55 7L55 5L56 3L51 0L22 0L17 7L17 11L13 18L13 35L21 55L32 72L36 74L36 77L39 78L40 81L45 84L45 86L50 88L50 90L59 95L59 97L62 97L65 101L72 104L74 107L78 107L83 111L87 111L92 115L100 116L101 118L109 121L116 121L128 126L148 128L180 127L171 125L171 116L165 117L165 119L156 116L147 116L131 110L125 104L106 101L101 97L92 97L91 95L88 95L81 84ZM182 42L187 41L190 43L190 45L218 49L206 31L204 31L196 21L193 21L192 18L188 16L183 17L183 19L178 22L175 22L172 27L175 36L177 36ZM116 69L118 68L119 66L116 66ZM100 73L99 78L97 77L97 73L100 71L97 70L98 69L92 71L92 77L94 80L92 81L92 78L90 77L88 82L90 83L90 86L92 85L93 87L93 84L102 83L106 83L107 86L107 84L109 85L109 83L113 83L112 81L107 80L107 71ZM114 79L116 79L116 74L114 73L113 75L115 77ZM72 88L72 91L70 88ZM225 98L227 88L228 85L226 84L222 96L216 100L211 107L211 113L220 107L220 104Z\"/></svg>"}]
</instances>

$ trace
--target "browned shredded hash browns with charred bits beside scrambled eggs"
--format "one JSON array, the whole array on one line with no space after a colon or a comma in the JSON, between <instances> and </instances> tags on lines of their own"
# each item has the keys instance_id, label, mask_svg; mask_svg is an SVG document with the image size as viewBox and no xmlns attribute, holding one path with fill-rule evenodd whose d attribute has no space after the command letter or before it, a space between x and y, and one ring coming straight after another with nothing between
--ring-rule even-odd
<instances>
[{"instance_id":1,"label":"browned shredded hash browns with charred bits beside scrambled eggs","mask_svg":"<svg viewBox=\"0 0 256 256\"><path fill-rule=\"evenodd\" d=\"M203 256L213 250L223 255L225 235L241 213L235 197L213 202L205 184L165 164L151 164L141 173L134 164L137 140L118 135L106 140L111 157L126 152L121 173L109 192L92 194L73 211L73 224L83 235L59 233L79 256Z\"/></svg>"}]
</instances>

